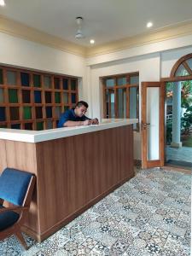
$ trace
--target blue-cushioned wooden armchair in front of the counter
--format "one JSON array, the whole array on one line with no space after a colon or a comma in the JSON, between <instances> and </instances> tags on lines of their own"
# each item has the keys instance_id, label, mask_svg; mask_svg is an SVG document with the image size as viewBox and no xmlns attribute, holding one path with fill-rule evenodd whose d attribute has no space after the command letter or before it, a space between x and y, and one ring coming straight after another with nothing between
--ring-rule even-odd
<instances>
[{"instance_id":1,"label":"blue-cushioned wooden armchair in front of the counter","mask_svg":"<svg viewBox=\"0 0 192 256\"><path fill-rule=\"evenodd\" d=\"M0 240L15 235L27 249L20 227L32 201L36 177L29 172L6 168L0 176ZM9 207L7 207L9 205Z\"/></svg>"}]
</instances>

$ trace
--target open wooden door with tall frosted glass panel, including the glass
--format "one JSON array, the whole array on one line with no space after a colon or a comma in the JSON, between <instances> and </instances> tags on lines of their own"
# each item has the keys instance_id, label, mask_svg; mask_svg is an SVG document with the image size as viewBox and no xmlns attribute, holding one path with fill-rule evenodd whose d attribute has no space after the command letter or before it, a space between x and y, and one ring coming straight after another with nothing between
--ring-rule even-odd
<instances>
[{"instance_id":1,"label":"open wooden door with tall frosted glass panel, including the glass","mask_svg":"<svg viewBox=\"0 0 192 256\"><path fill-rule=\"evenodd\" d=\"M165 83L142 83L142 167L164 166Z\"/></svg>"}]
</instances>

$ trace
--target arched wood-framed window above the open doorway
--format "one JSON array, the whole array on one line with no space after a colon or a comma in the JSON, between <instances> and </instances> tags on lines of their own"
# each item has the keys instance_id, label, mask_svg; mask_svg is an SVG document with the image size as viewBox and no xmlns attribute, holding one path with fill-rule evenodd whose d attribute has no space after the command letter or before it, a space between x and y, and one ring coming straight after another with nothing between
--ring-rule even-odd
<instances>
[{"instance_id":1,"label":"arched wood-framed window above the open doorway","mask_svg":"<svg viewBox=\"0 0 192 256\"><path fill-rule=\"evenodd\" d=\"M192 76L192 54L184 55L172 67L171 78Z\"/></svg>"}]
</instances>

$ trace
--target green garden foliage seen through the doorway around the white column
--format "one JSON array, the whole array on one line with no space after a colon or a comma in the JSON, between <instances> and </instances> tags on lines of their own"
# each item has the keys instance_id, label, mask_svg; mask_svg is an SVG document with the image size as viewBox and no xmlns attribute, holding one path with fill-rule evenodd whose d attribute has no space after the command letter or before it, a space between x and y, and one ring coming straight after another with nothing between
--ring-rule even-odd
<instances>
[{"instance_id":1,"label":"green garden foliage seen through the doorway around the white column","mask_svg":"<svg viewBox=\"0 0 192 256\"><path fill-rule=\"evenodd\" d=\"M166 97L172 98L172 88L173 83L166 84ZM184 113L181 118L181 134L189 135L190 129L192 127L192 80L183 81L181 85L182 95L181 95L181 108L183 108ZM166 143L172 142L172 119L167 119L166 121Z\"/></svg>"}]
</instances>

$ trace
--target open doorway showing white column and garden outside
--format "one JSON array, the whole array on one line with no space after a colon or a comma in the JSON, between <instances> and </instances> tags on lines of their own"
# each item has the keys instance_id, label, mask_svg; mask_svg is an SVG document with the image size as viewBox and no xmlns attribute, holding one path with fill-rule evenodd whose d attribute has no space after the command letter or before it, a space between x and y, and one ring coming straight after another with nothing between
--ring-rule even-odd
<instances>
[{"instance_id":1,"label":"open doorway showing white column and garden outside","mask_svg":"<svg viewBox=\"0 0 192 256\"><path fill-rule=\"evenodd\" d=\"M192 170L192 80L166 83L166 166Z\"/></svg>"}]
</instances>

